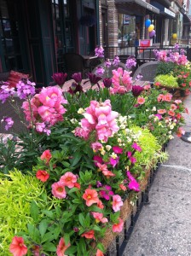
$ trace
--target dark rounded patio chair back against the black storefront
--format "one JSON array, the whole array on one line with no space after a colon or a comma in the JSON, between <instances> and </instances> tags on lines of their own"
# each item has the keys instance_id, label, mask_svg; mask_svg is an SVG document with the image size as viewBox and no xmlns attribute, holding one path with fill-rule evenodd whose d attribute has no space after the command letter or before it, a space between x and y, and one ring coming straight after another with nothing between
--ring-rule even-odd
<instances>
[{"instance_id":1,"label":"dark rounded patio chair back against the black storefront","mask_svg":"<svg viewBox=\"0 0 191 256\"><path fill-rule=\"evenodd\" d=\"M63 58L67 79L72 79L72 74L79 72L81 72L83 78L85 78L85 73L88 73L89 69L85 67L85 61L82 55L77 53L66 53L63 55Z\"/></svg>"}]
</instances>

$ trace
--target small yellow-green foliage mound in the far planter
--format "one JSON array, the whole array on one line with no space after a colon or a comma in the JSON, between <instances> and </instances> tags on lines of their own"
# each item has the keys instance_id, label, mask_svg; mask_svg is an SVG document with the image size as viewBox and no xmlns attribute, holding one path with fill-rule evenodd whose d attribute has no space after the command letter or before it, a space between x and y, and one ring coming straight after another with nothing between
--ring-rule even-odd
<instances>
[{"instance_id":1,"label":"small yellow-green foliage mound in the far planter","mask_svg":"<svg viewBox=\"0 0 191 256\"><path fill-rule=\"evenodd\" d=\"M159 83L161 86L171 87L171 88L178 88L179 85L177 83L177 78L172 76L171 74L160 74L156 76L154 79L154 83Z\"/></svg>"}]
</instances>

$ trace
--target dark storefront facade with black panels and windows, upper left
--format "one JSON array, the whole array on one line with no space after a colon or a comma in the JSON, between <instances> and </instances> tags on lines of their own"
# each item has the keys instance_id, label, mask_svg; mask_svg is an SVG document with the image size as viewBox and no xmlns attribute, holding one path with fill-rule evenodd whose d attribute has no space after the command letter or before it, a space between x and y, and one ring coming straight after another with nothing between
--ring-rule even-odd
<instances>
[{"instance_id":1,"label":"dark storefront facade with black panels and windows, upper left","mask_svg":"<svg viewBox=\"0 0 191 256\"><path fill-rule=\"evenodd\" d=\"M0 72L29 73L38 85L64 71L66 52L97 44L96 0L0 0Z\"/></svg>"}]
</instances>

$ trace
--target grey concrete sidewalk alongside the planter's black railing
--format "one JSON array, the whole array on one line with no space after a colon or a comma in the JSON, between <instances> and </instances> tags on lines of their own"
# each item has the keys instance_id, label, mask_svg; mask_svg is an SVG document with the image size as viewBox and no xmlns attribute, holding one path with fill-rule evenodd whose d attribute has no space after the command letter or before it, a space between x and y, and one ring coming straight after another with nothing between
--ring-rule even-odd
<instances>
[{"instance_id":1,"label":"grey concrete sidewalk alongside the planter's black railing","mask_svg":"<svg viewBox=\"0 0 191 256\"><path fill-rule=\"evenodd\" d=\"M191 131L191 96L184 105L184 130ZM175 136L167 151L123 256L191 255L191 143Z\"/></svg>"}]
</instances>

